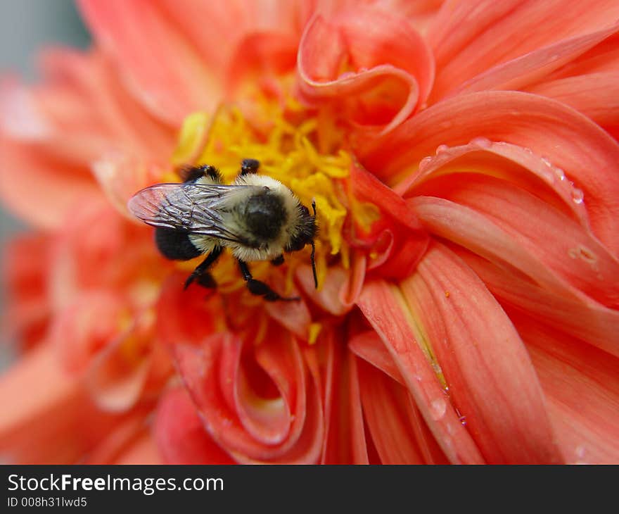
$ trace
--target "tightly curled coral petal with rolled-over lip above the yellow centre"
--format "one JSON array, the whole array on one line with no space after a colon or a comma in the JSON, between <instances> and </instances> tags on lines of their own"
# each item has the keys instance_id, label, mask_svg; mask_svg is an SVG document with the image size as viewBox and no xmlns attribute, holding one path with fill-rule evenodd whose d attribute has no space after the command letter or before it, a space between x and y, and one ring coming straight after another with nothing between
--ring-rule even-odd
<instances>
[{"instance_id":1,"label":"tightly curled coral petal with rolled-over lip above the yellow centre","mask_svg":"<svg viewBox=\"0 0 619 514\"><path fill-rule=\"evenodd\" d=\"M413 113L434 76L430 52L407 20L363 7L311 20L298 72L305 99L336 101L343 118L383 132Z\"/></svg>"}]
</instances>

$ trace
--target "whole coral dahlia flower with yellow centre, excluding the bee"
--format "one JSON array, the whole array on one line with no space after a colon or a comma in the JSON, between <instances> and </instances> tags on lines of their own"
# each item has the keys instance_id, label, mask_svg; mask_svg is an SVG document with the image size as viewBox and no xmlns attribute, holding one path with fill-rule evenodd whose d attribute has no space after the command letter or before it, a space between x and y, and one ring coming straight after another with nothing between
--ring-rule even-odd
<instances>
[{"instance_id":1,"label":"whole coral dahlia flower with yellow centre, excluding the bee","mask_svg":"<svg viewBox=\"0 0 619 514\"><path fill-rule=\"evenodd\" d=\"M81 0L0 92L23 463L619 462L619 4ZM127 211L243 158L309 248L183 284Z\"/></svg>"}]
</instances>

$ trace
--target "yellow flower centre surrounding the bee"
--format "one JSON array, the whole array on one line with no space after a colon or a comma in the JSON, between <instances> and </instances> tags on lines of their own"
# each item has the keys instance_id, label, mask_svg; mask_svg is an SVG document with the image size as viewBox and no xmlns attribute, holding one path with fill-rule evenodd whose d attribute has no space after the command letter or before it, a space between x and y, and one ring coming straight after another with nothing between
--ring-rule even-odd
<instances>
[{"instance_id":1,"label":"yellow flower centre surrounding the bee","mask_svg":"<svg viewBox=\"0 0 619 514\"><path fill-rule=\"evenodd\" d=\"M176 167L213 165L225 183L234 181L241 161L260 161L261 175L268 175L289 187L309 208L316 202L319 234L315 239L319 289L324 284L328 265L350 266L350 248L342 237L349 211L363 227L378 218L378 209L356 201L345 182L352 157L343 150L343 132L324 111L309 111L293 99L286 105L264 96L247 105L224 105L215 115L193 113L184 121L177 149L172 156ZM171 182L177 177L166 177ZM309 264L309 248L286 255L286 290L290 291L295 264ZM213 275L221 289L243 286L231 259L217 263ZM193 263L193 261L192 261ZM191 265L187 266L187 269ZM265 277L270 263L253 263L255 277Z\"/></svg>"}]
</instances>

